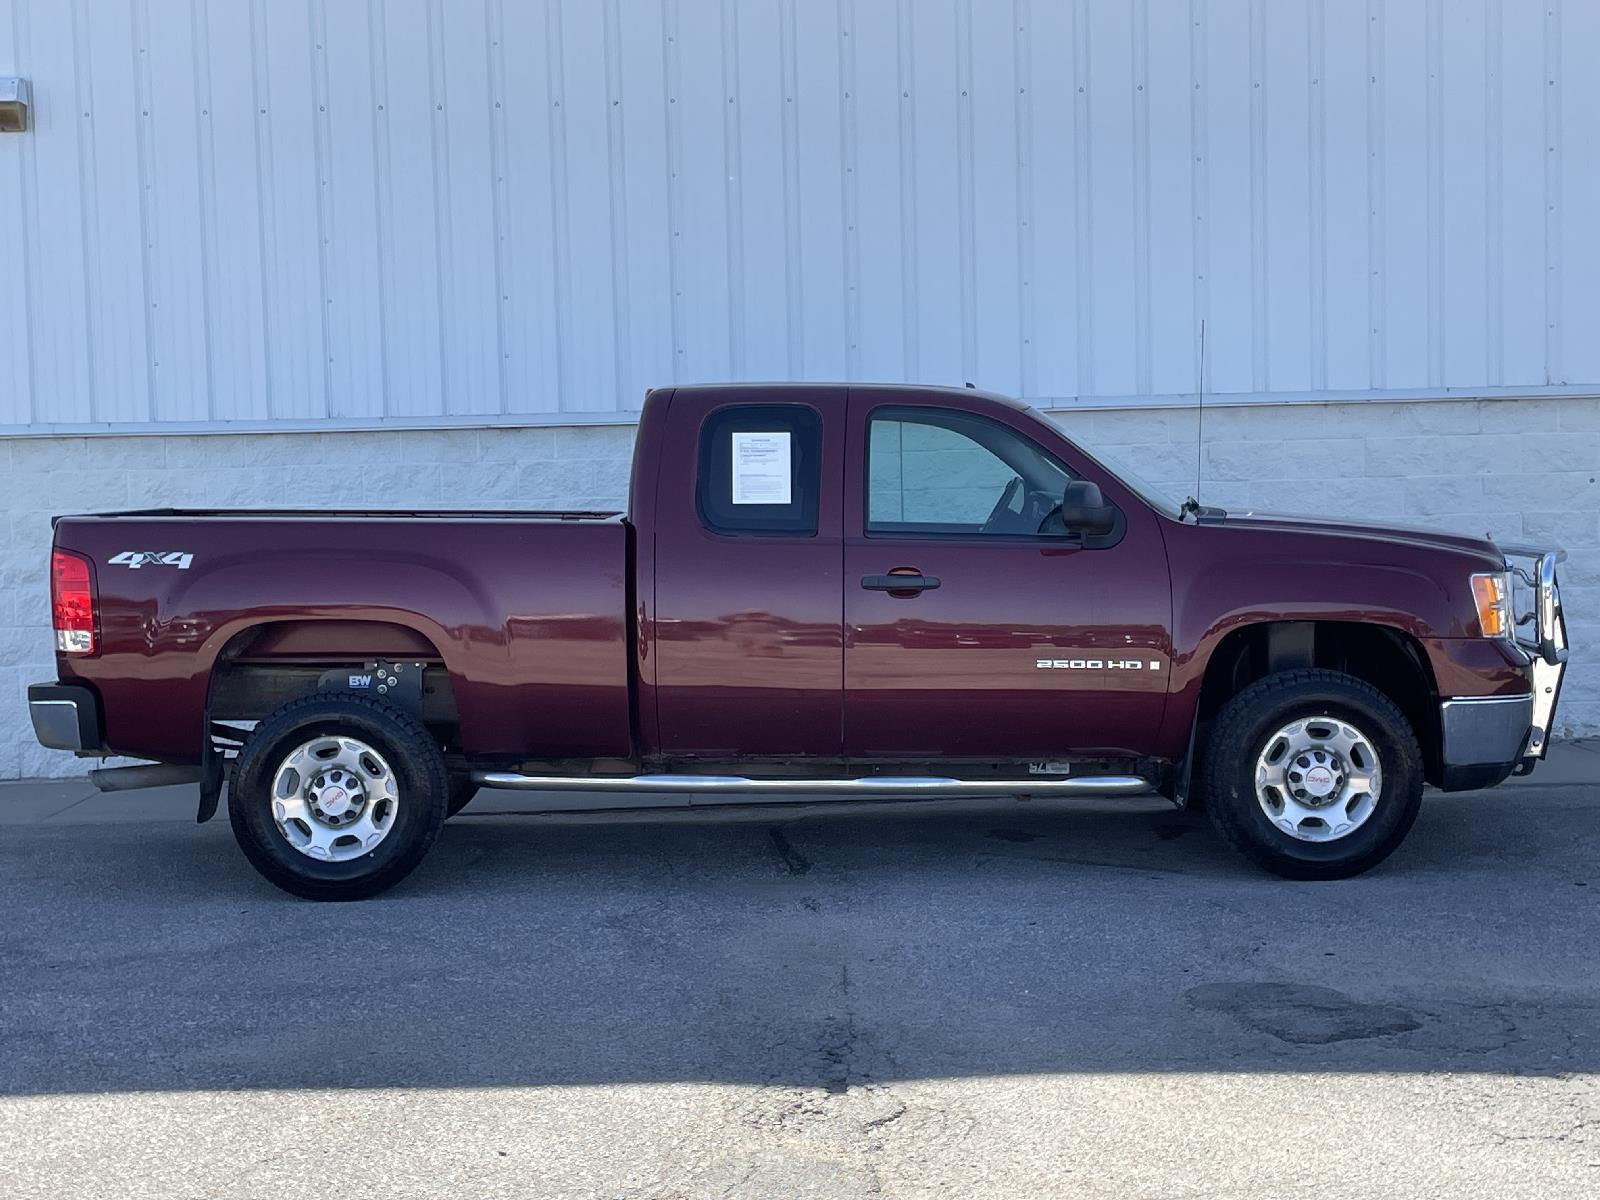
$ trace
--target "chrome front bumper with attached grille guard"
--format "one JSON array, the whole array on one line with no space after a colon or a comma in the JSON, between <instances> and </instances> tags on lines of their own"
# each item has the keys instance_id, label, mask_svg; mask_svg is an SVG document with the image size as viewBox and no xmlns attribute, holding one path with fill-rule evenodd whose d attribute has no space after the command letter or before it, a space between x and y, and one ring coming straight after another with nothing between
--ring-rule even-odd
<instances>
[{"instance_id":1,"label":"chrome front bumper with attached grille guard","mask_svg":"<svg viewBox=\"0 0 1600 1200\"><path fill-rule=\"evenodd\" d=\"M1566 558L1566 552L1522 546L1502 549L1518 594L1525 590L1528 598L1528 616L1517 624L1528 694L1453 696L1440 702L1440 786L1446 792L1493 787L1512 773L1528 774L1550 749L1550 726L1562 698L1562 675L1566 674L1566 619L1555 566ZM1533 560L1533 570L1520 566L1518 560Z\"/></svg>"}]
</instances>

